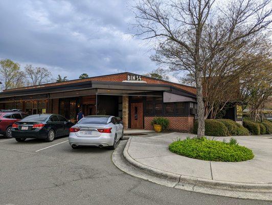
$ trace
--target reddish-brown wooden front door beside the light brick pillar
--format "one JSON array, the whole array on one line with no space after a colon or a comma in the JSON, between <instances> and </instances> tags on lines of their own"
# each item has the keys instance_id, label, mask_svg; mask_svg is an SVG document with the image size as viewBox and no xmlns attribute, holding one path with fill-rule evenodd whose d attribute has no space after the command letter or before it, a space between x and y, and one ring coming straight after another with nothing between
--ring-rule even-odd
<instances>
[{"instance_id":1,"label":"reddish-brown wooden front door beside the light brick pillar","mask_svg":"<svg viewBox=\"0 0 272 205\"><path fill-rule=\"evenodd\" d=\"M143 103L131 103L131 128L143 129Z\"/></svg>"}]
</instances>

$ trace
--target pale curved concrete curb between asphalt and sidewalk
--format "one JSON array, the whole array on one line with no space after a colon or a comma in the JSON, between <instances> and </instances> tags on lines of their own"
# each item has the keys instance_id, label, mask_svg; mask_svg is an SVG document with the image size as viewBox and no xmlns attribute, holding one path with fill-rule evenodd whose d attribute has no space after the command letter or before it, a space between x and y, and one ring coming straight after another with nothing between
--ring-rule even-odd
<instances>
[{"instance_id":1,"label":"pale curved concrete curb between asphalt and sidewalk","mask_svg":"<svg viewBox=\"0 0 272 205\"><path fill-rule=\"evenodd\" d=\"M159 178L163 178L164 181L169 180L171 182L175 182L175 186L173 186L174 188L184 189L188 191L196 191L201 193L222 195L222 196L231 196L231 197L237 197L237 198L272 200L272 185L271 184L239 183L239 182L203 179L203 178L174 174L174 173L158 170L158 169L143 165L142 163L133 159L128 153L129 145L132 138L133 137L130 137L128 139L127 144L123 150L124 158L131 165L133 165L134 167L146 173L151 173L152 175L156 175Z\"/></svg>"}]
</instances>

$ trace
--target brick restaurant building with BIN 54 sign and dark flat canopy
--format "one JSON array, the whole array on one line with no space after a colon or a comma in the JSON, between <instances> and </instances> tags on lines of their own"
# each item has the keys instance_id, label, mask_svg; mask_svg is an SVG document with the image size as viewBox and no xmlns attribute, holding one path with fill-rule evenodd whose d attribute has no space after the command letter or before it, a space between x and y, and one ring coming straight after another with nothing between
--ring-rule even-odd
<instances>
[{"instance_id":1,"label":"brick restaurant building with BIN 54 sign and dark flat canopy","mask_svg":"<svg viewBox=\"0 0 272 205\"><path fill-rule=\"evenodd\" d=\"M0 109L61 114L71 121L82 110L120 117L124 128L148 130L155 116L163 116L170 120L169 130L190 132L195 93L194 87L126 72L4 90Z\"/></svg>"}]
</instances>

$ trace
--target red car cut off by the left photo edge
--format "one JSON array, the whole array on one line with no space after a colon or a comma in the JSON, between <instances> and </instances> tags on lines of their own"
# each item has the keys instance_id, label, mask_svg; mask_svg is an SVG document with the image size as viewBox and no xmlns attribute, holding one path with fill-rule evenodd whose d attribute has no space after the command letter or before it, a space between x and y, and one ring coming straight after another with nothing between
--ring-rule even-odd
<instances>
[{"instance_id":1,"label":"red car cut off by the left photo edge","mask_svg":"<svg viewBox=\"0 0 272 205\"><path fill-rule=\"evenodd\" d=\"M0 110L0 134L3 134L6 138L11 138L12 124L26 116L28 114L20 110Z\"/></svg>"}]
</instances>

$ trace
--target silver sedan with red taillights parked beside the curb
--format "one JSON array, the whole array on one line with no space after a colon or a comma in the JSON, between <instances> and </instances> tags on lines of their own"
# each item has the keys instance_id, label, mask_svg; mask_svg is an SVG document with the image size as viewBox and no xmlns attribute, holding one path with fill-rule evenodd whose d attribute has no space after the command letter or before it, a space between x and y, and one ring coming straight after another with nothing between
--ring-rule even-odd
<instances>
[{"instance_id":1,"label":"silver sedan with red taillights parked beside the curb","mask_svg":"<svg viewBox=\"0 0 272 205\"><path fill-rule=\"evenodd\" d=\"M70 128L68 139L73 149L78 146L116 149L123 136L123 125L115 116L89 115Z\"/></svg>"}]
</instances>

